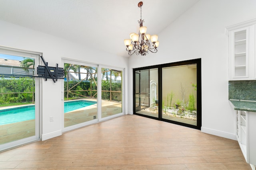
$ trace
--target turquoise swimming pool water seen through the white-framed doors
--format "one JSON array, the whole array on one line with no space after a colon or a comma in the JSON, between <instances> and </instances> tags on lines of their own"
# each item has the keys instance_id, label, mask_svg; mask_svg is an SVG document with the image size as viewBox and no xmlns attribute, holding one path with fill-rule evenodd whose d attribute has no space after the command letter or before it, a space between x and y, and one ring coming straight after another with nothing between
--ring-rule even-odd
<instances>
[{"instance_id":1,"label":"turquoise swimming pool water seen through the white-framed doors","mask_svg":"<svg viewBox=\"0 0 256 170\"><path fill-rule=\"evenodd\" d=\"M64 102L64 113L96 104L86 100ZM0 125L35 119L35 106L22 106L0 110Z\"/></svg>"}]
</instances>

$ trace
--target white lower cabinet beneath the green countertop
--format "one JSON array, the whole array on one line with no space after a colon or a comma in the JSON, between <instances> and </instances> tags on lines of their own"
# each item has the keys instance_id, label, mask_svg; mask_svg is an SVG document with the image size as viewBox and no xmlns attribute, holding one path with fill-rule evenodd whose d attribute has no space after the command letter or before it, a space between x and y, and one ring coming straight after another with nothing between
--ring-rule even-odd
<instances>
[{"instance_id":1,"label":"white lower cabinet beneath the green countertop","mask_svg":"<svg viewBox=\"0 0 256 170\"><path fill-rule=\"evenodd\" d=\"M236 138L248 164L256 165L256 113L236 111Z\"/></svg>"}]
</instances>

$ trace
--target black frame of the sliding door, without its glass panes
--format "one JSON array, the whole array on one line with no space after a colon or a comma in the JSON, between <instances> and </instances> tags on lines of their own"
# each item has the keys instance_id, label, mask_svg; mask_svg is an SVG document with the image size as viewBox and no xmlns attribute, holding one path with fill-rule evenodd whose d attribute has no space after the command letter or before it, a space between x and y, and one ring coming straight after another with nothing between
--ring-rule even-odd
<instances>
[{"instance_id":1,"label":"black frame of the sliding door, without its glass panes","mask_svg":"<svg viewBox=\"0 0 256 170\"><path fill-rule=\"evenodd\" d=\"M182 123L178 121L172 121L169 119L164 119L162 117L162 68L172 67L172 66L182 66L182 65L189 65L189 64L196 64L196 84L197 84L197 90L196 90L196 111L197 111L197 123L196 125L191 125L187 123ZM141 113L136 113L136 71L140 70L147 70L147 69L158 69L158 117L153 117L150 115L145 115ZM137 73L138 74L138 73ZM139 75L140 76L140 75ZM140 77L139 77L140 80ZM139 82L140 84L140 82ZM140 85L139 85L140 86ZM167 64L159 64L154 66L146 66L146 67L140 67L140 68L134 68L133 69L133 113L135 115L140 115L143 117L148 117L160 121L166 121L169 123L174 123L186 127L191 127L194 129L201 129L202 126L202 88L201 88L201 59L192 59L187 61L179 61L174 63L167 63ZM138 94L137 94L138 95ZM140 100L140 98L139 98ZM150 107L150 104L149 104Z\"/></svg>"}]
</instances>

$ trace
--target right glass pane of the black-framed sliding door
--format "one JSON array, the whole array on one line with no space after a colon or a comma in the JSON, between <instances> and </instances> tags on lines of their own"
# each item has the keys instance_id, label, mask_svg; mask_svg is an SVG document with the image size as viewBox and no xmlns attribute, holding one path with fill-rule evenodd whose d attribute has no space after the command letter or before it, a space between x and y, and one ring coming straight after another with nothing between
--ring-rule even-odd
<instances>
[{"instance_id":1,"label":"right glass pane of the black-framed sliding door","mask_svg":"<svg viewBox=\"0 0 256 170\"><path fill-rule=\"evenodd\" d=\"M162 118L197 125L196 64L162 68Z\"/></svg>"}]
</instances>

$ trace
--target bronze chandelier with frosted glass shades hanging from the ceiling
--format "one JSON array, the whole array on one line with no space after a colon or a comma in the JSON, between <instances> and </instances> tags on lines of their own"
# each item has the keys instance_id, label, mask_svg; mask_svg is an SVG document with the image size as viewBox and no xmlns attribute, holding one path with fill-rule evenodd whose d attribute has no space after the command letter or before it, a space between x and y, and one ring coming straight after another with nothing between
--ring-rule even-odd
<instances>
[{"instance_id":1,"label":"bronze chandelier with frosted glass shades hanging from the ceiling","mask_svg":"<svg viewBox=\"0 0 256 170\"><path fill-rule=\"evenodd\" d=\"M138 7L140 8L140 21L138 21L138 23L140 24L139 33L130 33L130 39L124 40L124 44L126 45L126 51L128 51L129 55L132 55L134 53L136 55L147 55L148 51L156 53L157 47L159 45L159 41L157 41L157 35L146 34L147 27L143 26L144 20L142 20L141 17L142 5L143 2L138 3Z\"/></svg>"}]
</instances>

